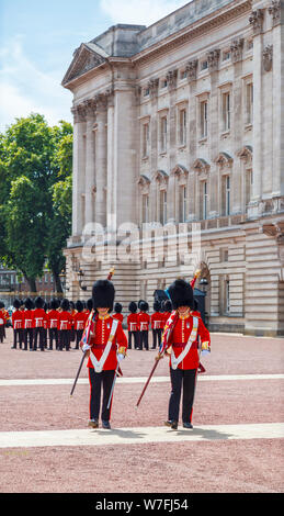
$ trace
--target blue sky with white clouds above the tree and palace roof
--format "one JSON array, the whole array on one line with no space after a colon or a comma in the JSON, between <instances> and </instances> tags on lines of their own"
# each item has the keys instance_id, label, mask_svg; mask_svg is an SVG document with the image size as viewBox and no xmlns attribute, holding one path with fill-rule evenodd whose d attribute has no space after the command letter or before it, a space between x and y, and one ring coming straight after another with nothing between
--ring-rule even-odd
<instances>
[{"instance_id":1,"label":"blue sky with white clouds above the tree and palace roof","mask_svg":"<svg viewBox=\"0 0 284 516\"><path fill-rule=\"evenodd\" d=\"M116 23L150 25L186 0L0 0L0 132L31 112L72 121L73 51Z\"/></svg>"}]
</instances>

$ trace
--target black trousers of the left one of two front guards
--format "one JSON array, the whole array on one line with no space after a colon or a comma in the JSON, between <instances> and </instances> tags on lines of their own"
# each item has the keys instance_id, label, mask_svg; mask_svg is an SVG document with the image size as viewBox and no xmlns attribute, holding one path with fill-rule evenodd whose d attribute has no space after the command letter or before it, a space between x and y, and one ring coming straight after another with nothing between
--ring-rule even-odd
<instances>
[{"instance_id":1,"label":"black trousers of the left one of two front guards","mask_svg":"<svg viewBox=\"0 0 284 516\"><path fill-rule=\"evenodd\" d=\"M90 380L90 419L99 419L101 408L101 392L103 388L102 403L102 420L109 422L111 418L112 402L107 408L109 399L112 391L115 371L95 372L93 368L89 368Z\"/></svg>"}]
</instances>

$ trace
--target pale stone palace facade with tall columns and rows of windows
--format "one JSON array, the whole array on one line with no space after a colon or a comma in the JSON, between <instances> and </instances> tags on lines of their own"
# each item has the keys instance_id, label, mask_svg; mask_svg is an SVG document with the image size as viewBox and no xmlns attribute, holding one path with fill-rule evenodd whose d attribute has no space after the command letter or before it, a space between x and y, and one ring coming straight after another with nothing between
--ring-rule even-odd
<instances>
[{"instance_id":1,"label":"pale stone palace facade with tall columns and rows of windows","mask_svg":"<svg viewBox=\"0 0 284 516\"><path fill-rule=\"evenodd\" d=\"M75 51L70 299L114 266L124 312L151 307L202 261L212 330L284 334L283 14L193 0Z\"/></svg>"}]
</instances>

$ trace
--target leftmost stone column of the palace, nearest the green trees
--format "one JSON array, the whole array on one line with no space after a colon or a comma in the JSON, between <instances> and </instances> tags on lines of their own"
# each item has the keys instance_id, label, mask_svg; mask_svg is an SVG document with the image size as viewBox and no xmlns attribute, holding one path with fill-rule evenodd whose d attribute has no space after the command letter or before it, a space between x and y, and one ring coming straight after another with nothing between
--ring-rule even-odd
<instances>
[{"instance_id":1,"label":"leftmost stone column of the palace, nearest the green trees","mask_svg":"<svg viewBox=\"0 0 284 516\"><path fill-rule=\"evenodd\" d=\"M72 236L80 236L84 225L82 195L86 180L86 110L82 105L77 105L71 109L71 112L73 114Z\"/></svg>"}]
</instances>

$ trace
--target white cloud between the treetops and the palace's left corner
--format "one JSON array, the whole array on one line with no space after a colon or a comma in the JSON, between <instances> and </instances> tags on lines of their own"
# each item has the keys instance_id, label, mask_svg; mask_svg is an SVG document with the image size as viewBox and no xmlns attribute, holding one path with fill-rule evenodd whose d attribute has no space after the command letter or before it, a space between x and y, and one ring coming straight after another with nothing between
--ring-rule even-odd
<instances>
[{"instance_id":1,"label":"white cloud between the treetops and the palace's left corner","mask_svg":"<svg viewBox=\"0 0 284 516\"><path fill-rule=\"evenodd\" d=\"M0 131L31 112L45 115L50 125L71 121L71 93L60 86L63 71L38 69L25 56L21 36L1 48L0 61Z\"/></svg>"}]
</instances>

